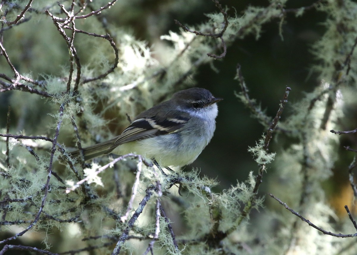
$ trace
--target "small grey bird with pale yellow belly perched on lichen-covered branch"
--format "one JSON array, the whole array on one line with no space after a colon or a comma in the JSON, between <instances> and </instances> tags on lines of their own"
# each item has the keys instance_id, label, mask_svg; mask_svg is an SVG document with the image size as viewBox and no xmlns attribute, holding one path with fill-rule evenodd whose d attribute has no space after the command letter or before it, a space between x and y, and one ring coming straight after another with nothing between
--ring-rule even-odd
<instances>
[{"instance_id":1,"label":"small grey bird with pale yellow belly perched on lichen-covered branch","mask_svg":"<svg viewBox=\"0 0 357 255\"><path fill-rule=\"evenodd\" d=\"M191 164L213 137L216 103L221 100L205 88L178 91L170 100L137 115L119 136L82 148L84 160L108 153L135 153L163 168ZM70 154L78 157L80 151Z\"/></svg>"}]
</instances>

